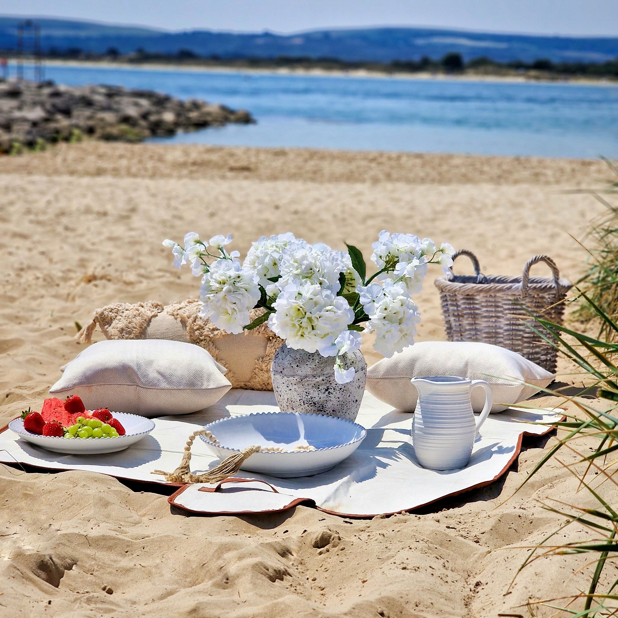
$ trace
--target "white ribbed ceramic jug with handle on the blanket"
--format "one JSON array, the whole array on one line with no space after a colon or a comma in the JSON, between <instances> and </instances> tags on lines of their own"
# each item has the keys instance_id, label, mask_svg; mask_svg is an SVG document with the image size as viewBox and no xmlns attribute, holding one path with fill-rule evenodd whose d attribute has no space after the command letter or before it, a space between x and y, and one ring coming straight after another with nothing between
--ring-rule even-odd
<instances>
[{"instance_id":1,"label":"white ribbed ceramic jug with handle on the blanket","mask_svg":"<svg viewBox=\"0 0 618 618\"><path fill-rule=\"evenodd\" d=\"M491 386L484 380L455 376L412 378L418 390L418 402L412 421L412 444L418 462L432 470L464 468L481 425L493 404ZM475 422L470 391L485 389L483 412Z\"/></svg>"}]
</instances>

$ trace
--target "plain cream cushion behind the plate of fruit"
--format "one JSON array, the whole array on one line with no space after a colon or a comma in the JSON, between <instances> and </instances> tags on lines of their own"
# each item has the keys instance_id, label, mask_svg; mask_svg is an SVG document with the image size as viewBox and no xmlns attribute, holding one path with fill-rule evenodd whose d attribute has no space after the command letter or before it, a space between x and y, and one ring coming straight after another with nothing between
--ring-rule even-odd
<instances>
[{"instance_id":1,"label":"plain cream cushion behind the plate of fruit","mask_svg":"<svg viewBox=\"0 0 618 618\"><path fill-rule=\"evenodd\" d=\"M78 354L49 392L78 395L88 410L144 417L186 414L213 405L232 385L197 345L161 339L100 341Z\"/></svg>"}]
</instances>

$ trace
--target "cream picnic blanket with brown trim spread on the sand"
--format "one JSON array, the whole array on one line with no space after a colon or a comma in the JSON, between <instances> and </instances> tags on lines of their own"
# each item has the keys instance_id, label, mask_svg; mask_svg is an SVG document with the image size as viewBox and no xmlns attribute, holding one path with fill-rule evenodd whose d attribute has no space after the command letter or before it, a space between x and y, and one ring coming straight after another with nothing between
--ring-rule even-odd
<instances>
[{"instance_id":1,"label":"cream picnic blanket with brown trim spread on the sand","mask_svg":"<svg viewBox=\"0 0 618 618\"><path fill-rule=\"evenodd\" d=\"M151 472L174 470L192 431L219 418L276 410L273 392L232 389L206 410L153 419L155 430L149 436L125 451L105 455L62 455L46 451L6 430L0 433L0 462L52 470L90 470L166 485L163 477ZM519 454L524 434L542 435L549 431L547 426L533 423L561 417L551 410L530 412L522 408L490 415L481 428L481 438L475 442L467 467L440 472L426 470L418 464L410 436L412 416L393 410L365 392L357 423L366 428L367 436L357 451L332 470L288 479L241 471L237 478L265 482L224 483L217 491L200 484L185 485L170 497L170 502L193 512L219 514L272 512L303 501L348 517L415 509L496 480ZM194 442L192 454L194 473L219 463L199 440Z\"/></svg>"}]
</instances>

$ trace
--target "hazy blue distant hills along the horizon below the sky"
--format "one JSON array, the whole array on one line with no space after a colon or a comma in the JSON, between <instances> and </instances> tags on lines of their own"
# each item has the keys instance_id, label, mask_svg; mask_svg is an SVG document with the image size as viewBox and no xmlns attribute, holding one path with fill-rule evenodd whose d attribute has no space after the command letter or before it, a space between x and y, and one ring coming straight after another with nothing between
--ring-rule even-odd
<instances>
[{"instance_id":1,"label":"hazy blue distant hills along the horizon below the sky","mask_svg":"<svg viewBox=\"0 0 618 618\"><path fill-rule=\"evenodd\" d=\"M0 49L16 48L17 17L0 17ZM65 19L36 19L41 27L41 49L66 53L80 49L103 54L116 48L128 54L142 48L151 53L177 54L190 50L198 56L221 58L277 56L334 57L343 61L438 59L459 52L466 61L487 56L497 62L604 62L618 57L618 38L509 35L438 28L350 28L315 30L292 35L271 32L232 33L210 30L166 32L152 28L107 25Z\"/></svg>"}]
</instances>

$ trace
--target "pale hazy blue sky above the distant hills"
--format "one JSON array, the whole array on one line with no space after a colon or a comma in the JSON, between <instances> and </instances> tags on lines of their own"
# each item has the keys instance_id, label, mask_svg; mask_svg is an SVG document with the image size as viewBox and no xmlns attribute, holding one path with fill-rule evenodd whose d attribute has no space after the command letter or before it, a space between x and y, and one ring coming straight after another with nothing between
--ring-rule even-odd
<instances>
[{"instance_id":1,"label":"pale hazy blue sky above the distant hills","mask_svg":"<svg viewBox=\"0 0 618 618\"><path fill-rule=\"evenodd\" d=\"M618 36L618 0L0 0L0 14L164 30L289 33L405 25Z\"/></svg>"}]
</instances>

